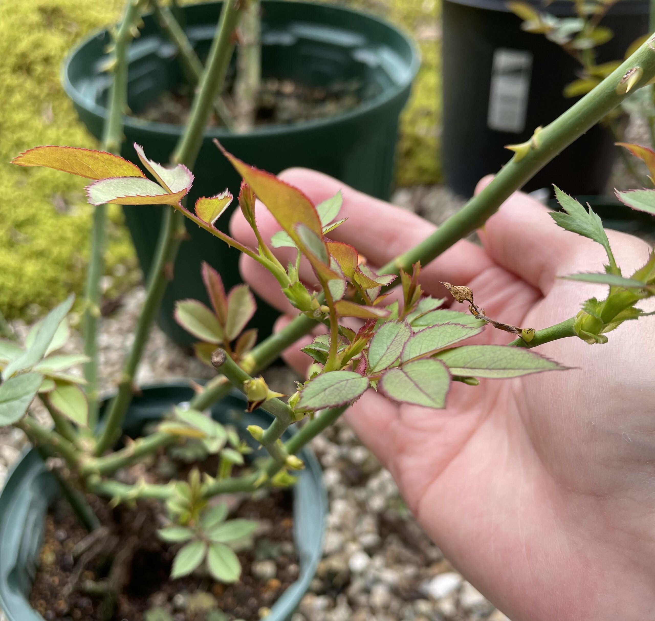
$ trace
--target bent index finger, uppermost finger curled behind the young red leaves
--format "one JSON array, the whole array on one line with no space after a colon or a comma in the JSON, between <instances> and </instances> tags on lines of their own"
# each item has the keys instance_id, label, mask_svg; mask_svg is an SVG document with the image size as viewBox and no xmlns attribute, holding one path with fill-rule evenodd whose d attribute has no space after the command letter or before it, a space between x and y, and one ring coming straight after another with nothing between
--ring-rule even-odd
<instances>
[{"instance_id":1,"label":"bent index finger, uppermost finger curled behind the young red leaves","mask_svg":"<svg viewBox=\"0 0 655 621\"><path fill-rule=\"evenodd\" d=\"M291 168L282 172L280 178L301 189L315 204L341 189L343 207L339 217L347 217L348 220L329 236L355 246L374 267L380 267L413 248L435 230L434 225L416 214L371 198L319 172ZM280 230L263 206L258 206L256 216L265 240ZM254 243L250 226L239 211L232 218L231 230L242 243ZM440 280L464 284L491 265L491 260L479 246L462 240L428 267L424 266L421 282L426 292L442 295ZM305 274L303 277L308 276Z\"/></svg>"}]
</instances>

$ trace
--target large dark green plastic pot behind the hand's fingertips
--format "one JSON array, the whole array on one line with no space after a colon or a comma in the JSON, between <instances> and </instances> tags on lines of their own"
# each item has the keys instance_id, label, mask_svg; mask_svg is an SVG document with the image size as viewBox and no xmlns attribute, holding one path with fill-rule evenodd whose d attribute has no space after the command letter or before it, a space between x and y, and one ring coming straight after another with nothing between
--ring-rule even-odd
<instances>
[{"instance_id":1,"label":"large dark green plastic pot behind the hand's fingertips","mask_svg":"<svg viewBox=\"0 0 655 621\"><path fill-rule=\"evenodd\" d=\"M202 58L216 28L221 3L183 7L189 41ZM176 49L163 37L151 16L144 19L141 36L130 47L128 104L136 112L162 92L183 83ZM105 100L110 79L102 71L109 33L103 30L75 48L64 66L65 91L81 121L100 138L107 116ZM193 172L195 184L189 204L212 196L227 186L236 197L240 179L219 153L213 138L249 164L278 173L290 166L307 166L325 172L369 195L388 198L392 188L398 115L407 102L419 56L411 41L398 29L353 10L323 4L264 0L262 3L262 72L264 77L292 79L312 86L338 80L360 79L364 103L329 119L269 125L248 134L222 128L205 133ZM146 122L125 117L126 140L122 155L138 162L132 143L143 145L151 159L167 162L181 136L179 125ZM234 207L233 207L234 208ZM160 210L126 207L126 222L143 273L149 273ZM229 213L219 227L227 231ZM200 262L207 261L223 277L226 287L240 282L238 252L187 221L190 240L176 261L158 322L182 345L193 342L172 317L176 300L192 297L208 301L200 278ZM276 313L259 301L252 326L266 336Z\"/></svg>"}]
</instances>

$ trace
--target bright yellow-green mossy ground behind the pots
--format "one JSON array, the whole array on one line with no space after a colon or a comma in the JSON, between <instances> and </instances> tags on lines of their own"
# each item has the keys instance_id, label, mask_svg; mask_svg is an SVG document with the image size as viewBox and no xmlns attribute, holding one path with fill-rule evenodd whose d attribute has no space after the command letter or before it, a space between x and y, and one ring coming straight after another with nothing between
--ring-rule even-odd
<instances>
[{"instance_id":1,"label":"bright yellow-green mossy ground behind the pots","mask_svg":"<svg viewBox=\"0 0 655 621\"><path fill-rule=\"evenodd\" d=\"M423 64L403 113L398 183L434 183L437 160L438 0L347 0L343 4L400 24L419 40ZM83 181L7 162L34 145L96 147L60 86L65 54L88 31L117 19L122 0L24 0L0 3L0 310L8 318L41 314L81 292L91 211ZM125 284L136 261L119 208L111 212L105 281Z\"/></svg>"}]
</instances>

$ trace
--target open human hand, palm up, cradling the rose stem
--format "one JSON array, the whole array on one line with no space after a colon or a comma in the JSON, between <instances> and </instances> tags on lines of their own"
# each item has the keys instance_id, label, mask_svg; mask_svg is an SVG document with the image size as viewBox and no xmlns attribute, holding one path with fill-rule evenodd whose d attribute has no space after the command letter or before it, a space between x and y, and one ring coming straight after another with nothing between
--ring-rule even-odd
<instances>
[{"instance_id":1,"label":"open human hand, palm up, cradling the rose stem","mask_svg":"<svg viewBox=\"0 0 655 621\"><path fill-rule=\"evenodd\" d=\"M356 246L381 266L434 231L415 214L367 197L317 172L281 178L314 202L343 191L331 238ZM261 205L263 238L279 226ZM233 235L254 244L237 210ZM487 315L524 328L574 316L605 286L557 280L602 271L601 246L555 225L546 209L513 195L480 232L483 247L462 240L424 267L422 288L446 295L440 280L466 284ZM618 265L630 273L648 246L608 231ZM278 256L286 263L288 249ZM242 256L253 290L285 312L297 311L271 274ZM314 279L309 266L301 272ZM453 303L453 309L466 311ZM647 303L641 307L646 310ZM506 343L487 327L471 342ZM407 504L443 552L514 621L655 618L655 320L622 324L606 345L553 341L538 352L572 367L516 379L453 383L447 409L392 404L367 391L346 420L390 470ZM299 371L310 358L285 352Z\"/></svg>"}]
</instances>

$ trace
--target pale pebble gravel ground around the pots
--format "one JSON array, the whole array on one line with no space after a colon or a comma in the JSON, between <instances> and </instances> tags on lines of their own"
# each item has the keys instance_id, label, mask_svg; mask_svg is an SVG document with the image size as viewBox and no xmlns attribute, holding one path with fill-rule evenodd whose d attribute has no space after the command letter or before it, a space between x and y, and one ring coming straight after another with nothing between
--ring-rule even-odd
<instances>
[{"instance_id":1,"label":"pale pebble gravel ground around the pots","mask_svg":"<svg viewBox=\"0 0 655 621\"><path fill-rule=\"evenodd\" d=\"M461 204L441 187L403 189L394 202L436 222ZM103 388L111 388L111 378L119 375L143 295L141 287L132 290L102 321ZM20 335L28 330L21 322L13 325ZM79 335L67 348L81 349ZM138 373L140 383L212 375L212 369L153 329ZM267 381L283 392L293 379L285 367L272 367L267 373ZM23 445L22 432L0 431L0 485ZM508 621L428 540L390 474L345 424L316 438L313 448L329 492L327 535L316 578L292 621Z\"/></svg>"}]
</instances>

